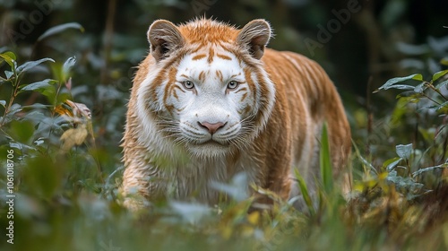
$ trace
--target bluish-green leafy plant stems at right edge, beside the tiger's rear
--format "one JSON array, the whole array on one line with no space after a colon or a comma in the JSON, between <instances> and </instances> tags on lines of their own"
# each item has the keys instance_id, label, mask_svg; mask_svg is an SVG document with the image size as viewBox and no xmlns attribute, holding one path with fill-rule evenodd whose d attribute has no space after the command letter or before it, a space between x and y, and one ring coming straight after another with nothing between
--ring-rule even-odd
<instances>
[{"instance_id":1,"label":"bluish-green leafy plant stems at right edge, beside the tiger's rear","mask_svg":"<svg viewBox=\"0 0 448 251\"><path fill-rule=\"evenodd\" d=\"M398 158L387 160L386 169L403 168L408 177L419 177L426 172L435 169L445 169L448 167L448 128L446 126L448 120L448 78L445 76L448 70L440 71L426 82L421 74L412 74L407 77L393 78L384 83L377 91L398 89L405 90L397 97L399 104L404 104L403 108L411 106L415 112L421 117L435 117L435 125L426 124L418 125L418 133L422 135L422 142L430 145L427 149L418 149L425 146L418 143L413 148L412 144L397 145L396 152ZM417 82L414 85L402 82ZM401 108L401 109L403 109ZM396 111L396 113L400 113ZM396 118L395 118L396 119ZM405 166L397 166L400 162L405 162ZM421 165L431 164L431 166L422 169Z\"/></svg>"}]
</instances>

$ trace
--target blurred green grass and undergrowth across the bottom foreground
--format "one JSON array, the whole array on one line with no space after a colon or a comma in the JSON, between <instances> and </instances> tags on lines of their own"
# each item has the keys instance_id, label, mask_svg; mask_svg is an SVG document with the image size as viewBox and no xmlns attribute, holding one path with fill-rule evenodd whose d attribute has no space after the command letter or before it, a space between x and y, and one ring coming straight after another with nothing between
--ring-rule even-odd
<instances>
[{"instance_id":1,"label":"blurred green grass and undergrowth across the bottom foreground","mask_svg":"<svg viewBox=\"0 0 448 251\"><path fill-rule=\"evenodd\" d=\"M5 152L4 146L1 151ZM380 175L359 182L358 192L346 203L340 194L328 189L333 180L326 180L332 178L324 174L331 173L331 166L324 164L319 198L322 206L317 211L310 209L312 213L297 212L289 203L278 200L271 212L248 213L249 199L216 207L162 201L154 203L150 212L133 214L116 203L121 172L103 173L103 178L92 179L97 170L82 168L82 163L90 160L77 151L84 149L73 149L56 159L43 156L17 160L14 244L3 242L2 250L446 250L448 247L446 186L440 188L444 190L439 195L423 195L421 200L409 202L392 183L386 182L387 176ZM321 160L326 163L331 153L321 152ZM101 181L105 179L109 183ZM305 192L306 184L299 184ZM4 198L4 184L1 187ZM7 224L3 217L6 210L2 203L2 226ZM4 236L4 228L1 231Z\"/></svg>"}]
</instances>

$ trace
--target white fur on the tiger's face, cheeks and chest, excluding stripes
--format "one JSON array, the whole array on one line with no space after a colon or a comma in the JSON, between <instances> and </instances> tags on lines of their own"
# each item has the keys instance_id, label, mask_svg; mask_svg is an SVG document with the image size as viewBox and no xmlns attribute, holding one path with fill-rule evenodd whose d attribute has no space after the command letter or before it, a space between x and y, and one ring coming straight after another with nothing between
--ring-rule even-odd
<instances>
[{"instance_id":1,"label":"white fur on the tiger's face, cheeks and chest, excluding stripes","mask_svg":"<svg viewBox=\"0 0 448 251\"><path fill-rule=\"evenodd\" d=\"M208 48L197 52L197 54L207 54ZM210 202L218 198L217 191L213 189L202 189L202 186L208 186L211 181L214 182L228 182L228 180L235 174L241 171L247 171L247 167L254 164L253 156L241 156L235 166L228 167L226 158L232 154L232 148L228 147L232 143L241 143L239 147L245 145L238 139L241 137L241 121L247 119L258 112L257 102L254 100L253 94L247 85L245 73L242 65L239 65L236 56L227 51L215 48L215 52L223 54L232 58L231 61L221 59L218 56L213 57L212 63L207 62L207 56L194 60L194 55L185 56L177 65L177 86L184 91L177 91L177 97L172 95L168 98L167 103L174 105L175 112L169 114L162 105L164 90L168 80L163 82L157 90L158 100L151 103L150 107L153 110L159 111L163 114L170 123L174 126L171 130L175 131L177 139L174 141L166 138L164 134L159 132L156 121L149 116L148 100L145 100L145 93L150 91L151 83L154 81L159 69L151 69L146 79L141 83L137 91L137 112L135 113L141 121L142 128L139 131L139 142L144 145L151 160L162 158L169 161L170 171L164 171L163 174L167 176L167 181L159 187L168 193L174 193L178 198L185 198L194 195L194 192L199 191L197 198L203 202ZM222 82L216 74L219 70L222 74ZM205 81L199 80L199 74L206 73ZM186 77L185 77L186 76ZM266 73L263 73L263 78L269 82L268 89L270 90L268 100L271 100L267 113L263 117L263 125L256 130L251 128L251 139L263 128L271 108L273 107L273 100L275 95L275 87L268 79ZM252 74L252 79L256 82L255 74ZM194 82L194 91L185 90L182 85L184 81ZM237 89L227 91L227 85L230 81L241 82ZM255 84L256 85L256 84ZM246 91L238 91L246 88ZM255 99L260 99L261 91L256 85ZM246 93L247 92L247 93ZM241 102L243 95L246 93L246 99ZM251 106L250 114L240 114L238 111L244 110L246 106ZM177 109L179 110L177 110ZM198 125L198 122L217 123L222 122L226 125L215 134L209 132ZM245 135L247 137L247 134ZM206 143L208 141L214 141ZM246 169L245 169L246 167ZM247 172L248 184L256 181L256 169ZM169 177L177 177L177 180L171 180Z\"/></svg>"}]
</instances>

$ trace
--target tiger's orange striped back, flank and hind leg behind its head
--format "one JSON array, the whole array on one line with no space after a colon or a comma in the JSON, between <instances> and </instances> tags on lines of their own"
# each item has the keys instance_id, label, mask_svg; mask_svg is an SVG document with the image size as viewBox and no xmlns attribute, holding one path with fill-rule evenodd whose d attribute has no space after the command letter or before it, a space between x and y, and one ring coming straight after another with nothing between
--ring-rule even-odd
<instances>
[{"instance_id":1,"label":"tiger's orange striped back, flank and hind leg behind its head","mask_svg":"<svg viewBox=\"0 0 448 251\"><path fill-rule=\"evenodd\" d=\"M349 192L350 177L344 170L351 149L351 134L339 94L323 68L306 56L289 51L266 49L263 62L272 82L276 83L277 96L286 113L273 113L279 120L275 126L289 126L292 140L292 167L297 168L315 191L315 177L319 177L319 149L322 125L328 124L334 177L340 177L343 192ZM275 130L275 128L273 128ZM291 179L294 173L289 173ZM297 184L292 183L289 197L298 195Z\"/></svg>"}]
</instances>

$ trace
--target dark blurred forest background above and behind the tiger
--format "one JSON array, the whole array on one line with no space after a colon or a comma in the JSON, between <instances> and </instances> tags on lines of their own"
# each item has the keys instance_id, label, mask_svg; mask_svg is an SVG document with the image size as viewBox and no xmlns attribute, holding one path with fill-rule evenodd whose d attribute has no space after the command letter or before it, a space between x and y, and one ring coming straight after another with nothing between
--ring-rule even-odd
<instances>
[{"instance_id":1,"label":"dark blurred forest background above and behind the tiger","mask_svg":"<svg viewBox=\"0 0 448 251\"><path fill-rule=\"evenodd\" d=\"M335 12L347 10L349 4L358 6L358 12L350 13L346 23L331 22L337 19ZM56 58L78 55L87 61L94 57L97 61L90 66L101 65L96 80L99 84L110 84L118 75L128 74L126 66L137 65L148 48L146 31L156 19L181 23L205 16L242 27L263 18L275 29L271 48L310 56L325 67L342 92L360 97L366 96L370 77L375 88L391 76L403 74L401 60L408 56L409 47L445 37L443 26L448 22L448 2L444 0L4 0L0 8L3 50L34 45L56 24L79 22L85 32L64 34L67 44L39 43L33 55L28 50L21 56L39 58L57 53ZM329 39L324 36L324 42L317 38L320 25L336 30L329 32ZM310 50L306 39L321 46Z\"/></svg>"}]
</instances>

